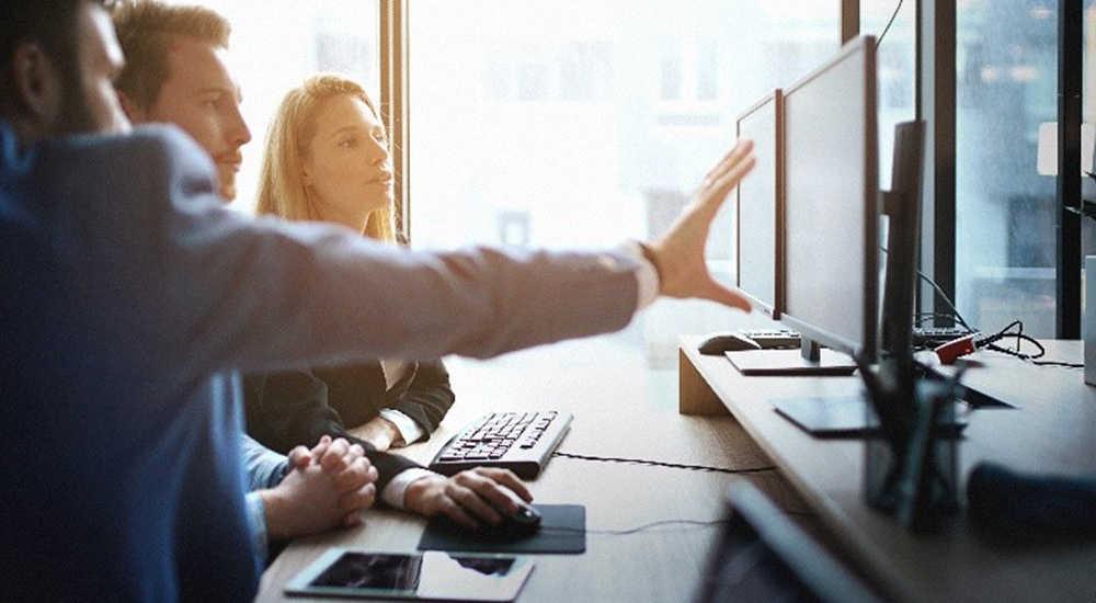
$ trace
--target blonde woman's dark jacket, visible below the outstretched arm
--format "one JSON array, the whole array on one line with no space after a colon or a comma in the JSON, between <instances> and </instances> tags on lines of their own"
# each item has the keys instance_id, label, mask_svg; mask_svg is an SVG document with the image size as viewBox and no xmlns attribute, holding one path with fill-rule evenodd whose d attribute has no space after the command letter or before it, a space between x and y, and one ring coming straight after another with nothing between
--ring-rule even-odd
<instances>
[{"instance_id":1,"label":"blonde woman's dark jacket, visible below the outstretched arm","mask_svg":"<svg viewBox=\"0 0 1096 603\"><path fill-rule=\"evenodd\" d=\"M322 435L362 444L380 474L378 490L396 474L418 465L403 456L378 452L346 430L390 408L410 417L429 439L454 400L449 374L436 360L412 363L390 390L386 390L385 373L377 361L249 375L243 390L247 430L252 437L281 453L298 445L313 446Z\"/></svg>"}]
</instances>

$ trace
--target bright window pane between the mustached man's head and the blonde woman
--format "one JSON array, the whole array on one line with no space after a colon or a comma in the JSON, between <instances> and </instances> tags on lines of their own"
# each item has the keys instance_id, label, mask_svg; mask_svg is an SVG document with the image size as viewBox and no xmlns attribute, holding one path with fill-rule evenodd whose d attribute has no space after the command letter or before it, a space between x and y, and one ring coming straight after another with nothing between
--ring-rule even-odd
<instances>
[{"instance_id":1,"label":"bright window pane between the mustached man's head and the blonde woman","mask_svg":"<svg viewBox=\"0 0 1096 603\"><path fill-rule=\"evenodd\" d=\"M252 140L243 148L233 206L250 212L266 129L286 90L319 71L351 76L380 102L380 0L169 0L202 4L232 24L230 61Z\"/></svg>"}]
</instances>

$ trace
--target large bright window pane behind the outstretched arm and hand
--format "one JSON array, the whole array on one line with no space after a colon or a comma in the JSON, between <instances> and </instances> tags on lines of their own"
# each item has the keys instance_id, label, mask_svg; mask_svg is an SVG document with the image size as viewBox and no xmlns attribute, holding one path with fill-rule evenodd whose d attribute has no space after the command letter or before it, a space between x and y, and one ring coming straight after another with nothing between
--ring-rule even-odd
<instances>
[{"instance_id":1,"label":"large bright window pane behind the outstretched arm and hand","mask_svg":"<svg viewBox=\"0 0 1096 603\"><path fill-rule=\"evenodd\" d=\"M413 244L606 247L661 232L733 145L735 117L837 50L838 10L837 0L410 2ZM732 214L712 232L722 266ZM678 337L750 320L760 318L660 302L621 333L494 361L491 378L502 367L543 375L541 362L550 374L613 367L598 378L676 406Z\"/></svg>"}]
</instances>

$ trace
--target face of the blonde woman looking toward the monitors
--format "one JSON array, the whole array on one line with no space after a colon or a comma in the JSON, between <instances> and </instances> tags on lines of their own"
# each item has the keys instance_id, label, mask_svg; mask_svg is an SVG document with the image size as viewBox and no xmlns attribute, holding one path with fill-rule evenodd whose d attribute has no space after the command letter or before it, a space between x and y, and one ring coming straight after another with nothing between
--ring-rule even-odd
<instances>
[{"instance_id":1,"label":"face of the blonde woman looking toward the monitors","mask_svg":"<svg viewBox=\"0 0 1096 603\"><path fill-rule=\"evenodd\" d=\"M384 125L350 94L320 102L304 160L305 186L320 217L362 230L370 212L392 203Z\"/></svg>"}]
</instances>

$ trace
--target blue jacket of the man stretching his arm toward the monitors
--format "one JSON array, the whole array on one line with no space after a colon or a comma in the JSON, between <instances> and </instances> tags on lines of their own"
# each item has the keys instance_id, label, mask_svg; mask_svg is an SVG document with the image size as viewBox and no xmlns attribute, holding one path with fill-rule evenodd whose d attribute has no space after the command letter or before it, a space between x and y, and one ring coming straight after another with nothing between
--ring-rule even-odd
<instances>
[{"instance_id":1,"label":"blue jacket of the man stretching his arm toward the monitors","mask_svg":"<svg viewBox=\"0 0 1096 603\"><path fill-rule=\"evenodd\" d=\"M235 371L488 357L636 309L623 254L407 252L216 191L174 128L18 152L0 122L0 599L251 600Z\"/></svg>"}]
</instances>

